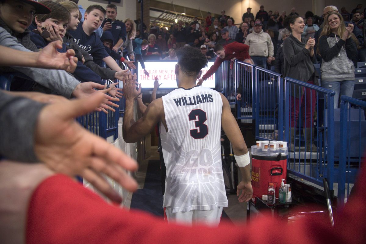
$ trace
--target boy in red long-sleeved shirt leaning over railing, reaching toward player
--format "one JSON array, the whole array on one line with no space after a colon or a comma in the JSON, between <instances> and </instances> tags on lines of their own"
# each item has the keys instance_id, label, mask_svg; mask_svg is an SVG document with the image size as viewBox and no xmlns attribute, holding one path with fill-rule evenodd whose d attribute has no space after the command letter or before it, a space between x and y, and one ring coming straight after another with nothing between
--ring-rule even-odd
<instances>
[{"instance_id":1,"label":"boy in red long-sleeved shirt leaning over railing, reaching toward player","mask_svg":"<svg viewBox=\"0 0 366 244\"><path fill-rule=\"evenodd\" d=\"M245 59L250 59L248 51L249 46L239 42L229 43L225 45L225 47L216 44L213 48L213 52L217 58L206 74L204 74L201 79L198 79L197 85L202 85L202 82L216 72L224 60L238 59L239 61L244 61Z\"/></svg>"}]
</instances>

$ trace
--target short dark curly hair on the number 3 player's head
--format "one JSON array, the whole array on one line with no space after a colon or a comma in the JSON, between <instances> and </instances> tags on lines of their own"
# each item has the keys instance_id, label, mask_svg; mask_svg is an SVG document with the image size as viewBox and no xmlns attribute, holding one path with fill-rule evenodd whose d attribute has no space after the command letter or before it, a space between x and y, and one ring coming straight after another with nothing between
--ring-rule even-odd
<instances>
[{"instance_id":1,"label":"short dark curly hair on the number 3 player's head","mask_svg":"<svg viewBox=\"0 0 366 244\"><path fill-rule=\"evenodd\" d=\"M198 48L191 46L176 50L180 69L188 76L197 76L202 68L207 66L206 55L202 54Z\"/></svg>"}]
</instances>

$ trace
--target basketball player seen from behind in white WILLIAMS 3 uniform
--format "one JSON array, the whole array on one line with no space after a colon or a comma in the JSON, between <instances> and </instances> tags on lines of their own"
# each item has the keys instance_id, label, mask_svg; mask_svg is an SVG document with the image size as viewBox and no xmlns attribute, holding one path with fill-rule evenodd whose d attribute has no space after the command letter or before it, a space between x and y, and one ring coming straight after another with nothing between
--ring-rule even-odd
<instances>
[{"instance_id":1,"label":"basketball player seen from behind in white WILLIAMS 3 uniform","mask_svg":"<svg viewBox=\"0 0 366 244\"><path fill-rule=\"evenodd\" d=\"M184 47L177 51L175 75L178 88L151 102L143 117L133 119L134 100L139 93L131 74L124 79L126 109L123 139L136 142L150 133L160 121L160 137L167 167L164 204L168 222L217 226L228 200L221 167L220 131L232 143L242 173L239 202L253 195L250 158L228 100L219 92L197 86L207 59L199 49Z\"/></svg>"}]
</instances>

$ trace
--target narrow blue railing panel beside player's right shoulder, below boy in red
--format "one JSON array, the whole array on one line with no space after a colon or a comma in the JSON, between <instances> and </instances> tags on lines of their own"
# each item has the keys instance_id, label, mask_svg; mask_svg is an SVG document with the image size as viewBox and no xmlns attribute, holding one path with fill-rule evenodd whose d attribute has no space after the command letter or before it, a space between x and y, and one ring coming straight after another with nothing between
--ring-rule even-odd
<instances>
[{"instance_id":1,"label":"narrow blue railing panel beside player's right shoulder, below boy in red","mask_svg":"<svg viewBox=\"0 0 366 244\"><path fill-rule=\"evenodd\" d=\"M255 119L255 65L235 60L238 119ZM241 88L240 88L241 87Z\"/></svg>"}]
</instances>

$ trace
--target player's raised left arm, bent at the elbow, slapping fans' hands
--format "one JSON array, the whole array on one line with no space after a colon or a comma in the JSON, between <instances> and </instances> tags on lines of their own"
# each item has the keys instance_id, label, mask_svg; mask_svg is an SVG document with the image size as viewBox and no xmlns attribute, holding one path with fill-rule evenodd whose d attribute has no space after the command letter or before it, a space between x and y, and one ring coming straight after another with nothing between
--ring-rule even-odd
<instances>
[{"instance_id":1,"label":"player's raised left arm, bent at the elbow, slapping fans' hands","mask_svg":"<svg viewBox=\"0 0 366 244\"><path fill-rule=\"evenodd\" d=\"M162 120L165 128L164 109L162 98L156 99L147 106L144 115L135 122L134 100L139 92L136 90L135 82L128 74L123 80L123 93L126 97L126 109L123 117L123 139L127 143L137 142L140 138L152 131L159 120Z\"/></svg>"}]
</instances>

